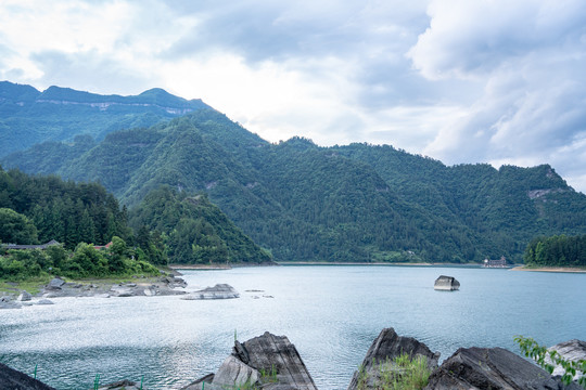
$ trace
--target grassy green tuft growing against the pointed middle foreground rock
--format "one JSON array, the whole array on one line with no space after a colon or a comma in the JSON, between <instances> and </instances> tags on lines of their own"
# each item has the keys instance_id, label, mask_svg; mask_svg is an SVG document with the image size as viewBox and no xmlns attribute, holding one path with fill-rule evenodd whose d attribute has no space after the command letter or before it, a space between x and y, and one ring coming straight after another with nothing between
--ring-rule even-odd
<instances>
[{"instance_id":1,"label":"grassy green tuft growing against the pointed middle foreground rock","mask_svg":"<svg viewBox=\"0 0 586 390\"><path fill-rule=\"evenodd\" d=\"M364 367L360 367L358 373L358 390L420 390L428 386L431 375L425 356L416 355L411 359L406 353L379 364L375 378L369 378ZM373 387L369 386L369 382Z\"/></svg>"}]
</instances>

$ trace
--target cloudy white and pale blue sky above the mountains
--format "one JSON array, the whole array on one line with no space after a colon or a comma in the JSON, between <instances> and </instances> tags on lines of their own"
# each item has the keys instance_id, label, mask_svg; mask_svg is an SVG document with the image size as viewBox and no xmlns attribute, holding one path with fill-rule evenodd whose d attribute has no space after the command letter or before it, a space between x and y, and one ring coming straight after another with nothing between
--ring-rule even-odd
<instances>
[{"instance_id":1,"label":"cloudy white and pale blue sky above the mountains","mask_svg":"<svg viewBox=\"0 0 586 390\"><path fill-rule=\"evenodd\" d=\"M160 87L271 142L547 162L586 193L584 0L2 0L0 80Z\"/></svg>"}]
</instances>

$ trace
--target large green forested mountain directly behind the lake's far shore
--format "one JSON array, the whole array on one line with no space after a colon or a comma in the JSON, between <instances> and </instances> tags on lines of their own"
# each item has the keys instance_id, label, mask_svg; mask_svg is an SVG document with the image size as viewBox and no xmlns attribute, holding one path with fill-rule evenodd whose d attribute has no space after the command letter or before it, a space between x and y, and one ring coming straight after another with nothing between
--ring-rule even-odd
<instances>
[{"instance_id":1,"label":"large green forested mountain directly behind the lake's far shore","mask_svg":"<svg viewBox=\"0 0 586 390\"><path fill-rule=\"evenodd\" d=\"M206 194L278 261L522 261L535 236L586 233L586 196L547 165L448 167L388 145L270 144L211 108L97 143L46 142L1 164L99 181L131 212L161 185Z\"/></svg>"}]
</instances>

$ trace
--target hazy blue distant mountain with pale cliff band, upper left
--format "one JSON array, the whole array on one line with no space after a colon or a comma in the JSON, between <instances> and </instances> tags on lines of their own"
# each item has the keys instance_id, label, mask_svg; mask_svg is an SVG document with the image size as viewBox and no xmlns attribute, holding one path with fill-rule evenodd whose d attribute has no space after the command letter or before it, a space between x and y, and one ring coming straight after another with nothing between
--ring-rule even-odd
<instances>
[{"instance_id":1,"label":"hazy blue distant mountain with pale cliff band, upper left","mask_svg":"<svg viewBox=\"0 0 586 390\"><path fill-rule=\"evenodd\" d=\"M60 87L40 92L0 81L0 157L44 141L73 141L79 134L102 140L115 130L150 127L201 108L208 106L156 88L119 96Z\"/></svg>"}]
</instances>

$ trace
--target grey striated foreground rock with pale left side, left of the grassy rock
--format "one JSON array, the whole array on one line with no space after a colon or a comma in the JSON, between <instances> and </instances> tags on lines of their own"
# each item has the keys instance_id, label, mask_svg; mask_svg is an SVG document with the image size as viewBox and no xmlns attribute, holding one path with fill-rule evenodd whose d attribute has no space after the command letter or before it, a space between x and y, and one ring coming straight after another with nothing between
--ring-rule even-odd
<instances>
[{"instance_id":1,"label":"grey striated foreground rock with pale left side, left of the grassy rock","mask_svg":"<svg viewBox=\"0 0 586 390\"><path fill-rule=\"evenodd\" d=\"M240 343L234 342L228 356L215 375L208 375L182 390L224 389L254 385L265 390L317 390L314 379L303 363L295 346L285 336L266 332Z\"/></svg>"}]
</instances>

